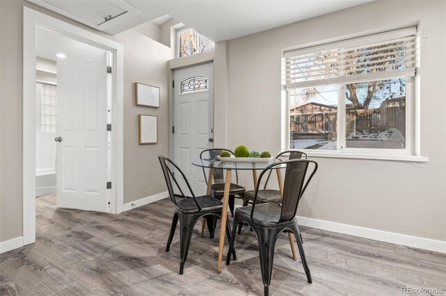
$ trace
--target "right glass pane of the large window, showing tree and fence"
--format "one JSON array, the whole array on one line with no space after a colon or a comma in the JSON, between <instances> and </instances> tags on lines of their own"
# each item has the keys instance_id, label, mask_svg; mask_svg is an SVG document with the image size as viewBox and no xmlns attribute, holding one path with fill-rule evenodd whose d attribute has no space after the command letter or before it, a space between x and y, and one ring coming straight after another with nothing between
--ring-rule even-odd
<instances>
[{"instance_id":1,"label":"right glass pane of the large window, showing tree and fence","mask_svg":"<svg viewBox=\"0 0 446 296\"><path fill-rule=\"evenodd\" d=\"M406 79L346 85L346 147L406 148Z\"/></svg>"}]
</instances>

